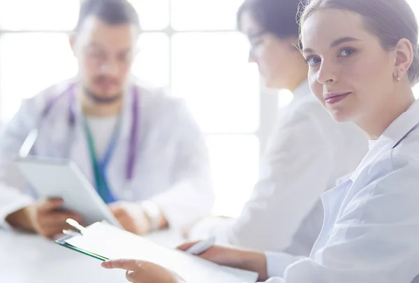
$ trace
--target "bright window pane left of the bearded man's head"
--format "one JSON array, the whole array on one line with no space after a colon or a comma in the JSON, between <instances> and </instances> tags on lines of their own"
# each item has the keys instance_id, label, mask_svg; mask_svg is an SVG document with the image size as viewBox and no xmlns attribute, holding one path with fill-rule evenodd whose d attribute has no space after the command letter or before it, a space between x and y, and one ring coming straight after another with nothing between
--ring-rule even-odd
<instances>
[{"instance_id":1,"label":"bright window pane left of the bearded man's head","mask_svg":"<svg viewBox=\"0 0 419 283\"><path fill-rule=\"evenodd\" d=\"M47 86L71 77L76 71L77 65L65 34L3 33L0 38L2 121L15 114L22 98L29 98Z\"/></svg>"}]
</instances>

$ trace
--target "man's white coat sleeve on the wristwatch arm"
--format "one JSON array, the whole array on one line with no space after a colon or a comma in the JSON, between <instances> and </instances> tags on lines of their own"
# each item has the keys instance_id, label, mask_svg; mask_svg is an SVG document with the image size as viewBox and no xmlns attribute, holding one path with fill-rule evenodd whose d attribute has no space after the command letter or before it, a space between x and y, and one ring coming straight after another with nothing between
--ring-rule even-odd
<instances>
[{"instance_id":1,"label":"man's white coat sleeve on the wristwatch arm","mask_svg":"<svg viewBox=\"0 0 419 283\"><path fill-rule=\"evenodd\" d=\"M171 139L177 141L172 187L151 200L159 206L170 227L183 228L210 214L214 192L205 138L186 104L179 103L171 124Z\"/></svg>"}]
</instances>

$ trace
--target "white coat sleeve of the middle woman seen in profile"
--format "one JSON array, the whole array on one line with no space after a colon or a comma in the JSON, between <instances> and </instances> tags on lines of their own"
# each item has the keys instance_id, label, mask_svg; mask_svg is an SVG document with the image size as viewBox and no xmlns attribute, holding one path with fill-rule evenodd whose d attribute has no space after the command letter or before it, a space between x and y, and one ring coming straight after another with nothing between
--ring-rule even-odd
<instances>
[{"instance_id":1,"label":"white coat sleeve of the middle woman seen in profile","mask_svg":"<svg viewBox=\"0 0 419 283\"><path fill-rule=\"evenodd\" d=\"M235 222L207 227L208 234L216 235L221 243L257 250L283 251L291 244L295 231L318 204L330 180L325 168L332 155L328 154L328 137L316 118L321 115L315 112L317 109L324 111L317 105L314 109L303 107L279 124L265 152L259 181L242 213ZM198 226L205 225L201 222ZM198 226L193 230L197 231ZM289 262L284 260L283 270Z\"/></svg>"}]
</instances>

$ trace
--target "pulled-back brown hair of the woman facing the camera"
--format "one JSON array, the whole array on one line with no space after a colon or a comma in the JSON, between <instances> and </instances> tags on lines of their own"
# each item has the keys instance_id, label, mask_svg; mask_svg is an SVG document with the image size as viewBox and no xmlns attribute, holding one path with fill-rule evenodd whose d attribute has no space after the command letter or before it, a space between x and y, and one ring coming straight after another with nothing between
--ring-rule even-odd
<instances>
[{"instance_id":1,"label":"pulled-back brown hair of the woman facing the camera","mask_svg":"<svg viewBox=\"0 0 419 283\"><path fill-rule=\"evenodd\" d=\"M362 16L367 31L378 37L385 50L395 49L402 38L409 40L414 58L407 73L411 84L418 82L418 22L406 0L312 0L303 8L301 26L316 10L325 8L347 10Z\"/></svg>"}]
</instances>

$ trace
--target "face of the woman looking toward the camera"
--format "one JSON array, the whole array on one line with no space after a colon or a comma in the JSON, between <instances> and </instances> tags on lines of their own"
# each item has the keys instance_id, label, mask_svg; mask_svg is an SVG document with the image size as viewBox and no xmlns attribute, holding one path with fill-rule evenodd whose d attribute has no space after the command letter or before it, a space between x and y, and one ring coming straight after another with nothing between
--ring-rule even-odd
<instances>
[{"instance_id":1,"label":"face of the woman looking toward the camera","mask_svg":"<svg viewBox=\"0 0 419 283\"><path fill-rule=\"evenodd\" d=\"M395 52L381 47L360 15L317 10L304 22L302 45L311 91L336 121L374 117L395 92Z\"/></svg>"}]
</instances>

